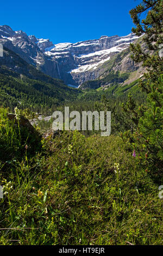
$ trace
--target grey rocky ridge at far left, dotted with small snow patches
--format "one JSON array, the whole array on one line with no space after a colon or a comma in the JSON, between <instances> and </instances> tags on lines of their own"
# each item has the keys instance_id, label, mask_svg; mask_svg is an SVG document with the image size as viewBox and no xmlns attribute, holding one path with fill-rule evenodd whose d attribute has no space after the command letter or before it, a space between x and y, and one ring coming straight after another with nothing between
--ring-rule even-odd
<instances>
[{"instance_id":1,"label":"grey rocky ridge at far left, dotted with small snow patches","mask_svg":"<svg viewBox=\"0 0 163 256\"><path fill-rule=\"evenodd\" d=\"M5 25L0 26L0 43L9 50L17 53L28 64L32 64L35 68L55 78L60 78L57 69L57 62L51 61L41 48L44 42L35 41L35 36L28 36L22 31L12 31ZM44 44L46 47L52 43L49 40ZM40 46L40 47L39 47Z\"/></svg>"}]
</instances>

